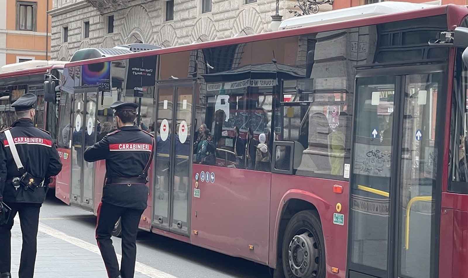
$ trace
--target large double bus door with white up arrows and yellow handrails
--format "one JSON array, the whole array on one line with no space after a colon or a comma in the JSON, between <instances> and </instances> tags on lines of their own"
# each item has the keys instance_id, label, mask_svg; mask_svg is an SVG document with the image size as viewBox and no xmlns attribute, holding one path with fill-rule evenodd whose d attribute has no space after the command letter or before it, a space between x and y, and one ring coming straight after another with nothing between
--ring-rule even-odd
<instances>
[{"instance_id":1,"label":"large double bus door with white up arrows and yellow handrails","mask_svg":"<svg viewBox=\"0 0 468 278\"><path fill-rule=\"evenodd\" d=\"M444 70L357 72L349 278L437 277Z\"/></svg>"}]
</instances>

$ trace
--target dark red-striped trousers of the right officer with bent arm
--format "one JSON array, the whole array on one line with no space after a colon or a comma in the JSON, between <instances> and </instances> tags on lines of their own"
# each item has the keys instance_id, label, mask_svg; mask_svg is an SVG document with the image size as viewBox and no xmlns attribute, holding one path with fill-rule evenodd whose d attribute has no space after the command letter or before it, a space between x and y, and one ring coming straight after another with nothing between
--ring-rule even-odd
<instances>
[{"instance_id":1,"label":"dark red-striped trousers of the right officer with bent arm","mask_svg":"<svg viewBox=\"0 0 468 278\"><path fill-rule=\"evenodd\" d=\"M138 224L143 210L101 203L97 212L96 241L109 278L133 278L137 257ZM112 245L112 229L118 218L122 221L122 266L119 271L116 252Z\"/></svg>"}]
</instances>

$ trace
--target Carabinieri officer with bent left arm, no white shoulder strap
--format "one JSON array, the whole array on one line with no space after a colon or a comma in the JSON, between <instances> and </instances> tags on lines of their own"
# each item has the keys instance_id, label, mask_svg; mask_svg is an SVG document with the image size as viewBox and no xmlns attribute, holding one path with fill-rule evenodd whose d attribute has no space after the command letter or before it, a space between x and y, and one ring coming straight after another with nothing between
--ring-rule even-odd
<instances>
[{"instance_id":1,"label":"Carabinieri officer with bent left arm, no white shoulder strap","mask_svg":"<svg viewBox=\"0 0 468 278\"><path fill-rule=\"evenodd\" d=\"M154 138L133 125L138 104L114 102L117 130L88 147L88 162L106 160L102 203L97 211L96 240L109 278L133 278L137 255L138 224L146 209L147 171L153 157ZM122 265L110 239L117 220L122 223Z\"/></svg>"}]
</instances>

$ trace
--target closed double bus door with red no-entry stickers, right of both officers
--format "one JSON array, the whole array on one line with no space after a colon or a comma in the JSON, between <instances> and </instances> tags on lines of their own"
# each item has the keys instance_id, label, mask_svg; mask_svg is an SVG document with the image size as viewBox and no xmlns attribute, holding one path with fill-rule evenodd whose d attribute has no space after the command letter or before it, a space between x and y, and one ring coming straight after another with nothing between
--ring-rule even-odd
<instances>
[{"instance_id":1,"label":"closed double bus door with red no-entry stickers, right of both officers","mask_svg":"<svg viewBox=\"0 0 468 278\"><path fill-rule=\"evenodd\" d=\"M158 81L153 227L189 235L196 80Z\"/></svg>"}]
</instances>

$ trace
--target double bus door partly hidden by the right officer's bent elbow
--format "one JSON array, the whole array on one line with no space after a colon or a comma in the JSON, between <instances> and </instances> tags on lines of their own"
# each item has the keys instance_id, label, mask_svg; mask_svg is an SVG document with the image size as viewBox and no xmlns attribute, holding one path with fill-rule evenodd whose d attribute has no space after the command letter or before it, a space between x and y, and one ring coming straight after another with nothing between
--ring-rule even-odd
<instances>
[{"instance_id":1,"label":"double bus door partly hidden by the right officer's bent elbow","mask_svg":"<svg viewBox=\"0 0 468 278\"><path fill-rule=\"evenodd\" d=\"M96 140L96 98L98 87L77 87L72 100L72 163L70 203L94 210L94 163L83 154Z\"/></svg>"}]
</instances>

